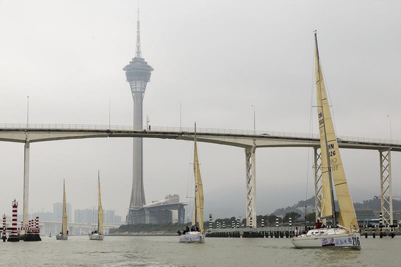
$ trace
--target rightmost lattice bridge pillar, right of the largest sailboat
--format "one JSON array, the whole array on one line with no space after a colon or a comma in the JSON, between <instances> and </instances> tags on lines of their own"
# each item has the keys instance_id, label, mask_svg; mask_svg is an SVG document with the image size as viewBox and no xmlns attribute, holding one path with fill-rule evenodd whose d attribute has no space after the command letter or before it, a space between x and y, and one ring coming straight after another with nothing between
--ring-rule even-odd
<instances>
[{"instance_id":1,"label":"rightmost lattice bridge pillar, right of the largest sailboat","mask_svg":"<svg viewBox=\"0 0 401 267\"><path fill-rule=\"evenodd\" d=\"M379 150L380 206L383 224L392 225L391 149Z\"/></svg>"}]
</instances>

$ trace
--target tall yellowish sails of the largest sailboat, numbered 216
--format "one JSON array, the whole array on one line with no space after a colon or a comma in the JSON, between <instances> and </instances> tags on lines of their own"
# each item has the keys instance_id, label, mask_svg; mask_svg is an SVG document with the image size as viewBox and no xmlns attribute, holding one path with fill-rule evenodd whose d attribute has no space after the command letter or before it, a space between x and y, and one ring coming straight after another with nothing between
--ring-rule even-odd
<instances>
[{"instance_id":1,"label":"tall yellowish sails of the largest sailboat, numbered 216","mask_svg":"<svg viewBox=\"0 0 401 267\"><path fill-rule=\"evenodd\" d=\"M338 222L340 225L348 227L348 228L358 228L358 223L356 220L355 209L352 203L351 196L349 194L348 184L345 178L344 169L342 166L342 160L340 157L340 151L338 149L337 137L334 131L333 121L331 119L331 113L329 109L329 103L327 100L326 88L324 86L323 81L323 73L320 66L319 61L319 51L317 48L317 39L315 33L315 76L316 76L316 91L317 91L317 106L321 106L318 108L318 117L319 117L319 134L320 134L320 150L322 155L322 173L326 173L326 169L328 171L331 170L331 175L333 179L334 189L337 194L337 201L339 206L339 217ZM320 102L319 102L320 101ZM327 142L325 140L327 138ZM326 148L327 145L327 148ZM327 166L327 153L329 156L329 165ZM324 158L323 158L324 157ZM327 167L330 167L328 169ZM325 180L323 180L322 176L322 197L327 205L327 199L330 197L330 192L326 192L326 187L328 181L328 172L325 174ZM325 182L325 188L323 188L323 182ZM329 194L329 195L328 195ZM322 199L322 208L327 209L326 206L323 206ZM331 201L331 200L330 200ZM331 203L331 202L330 202ZM331 205L331 204L330 204ZM331 210L329 208L328 210ZM326 212L326 210L325 210Z\"/></svg>"}]
</instances>

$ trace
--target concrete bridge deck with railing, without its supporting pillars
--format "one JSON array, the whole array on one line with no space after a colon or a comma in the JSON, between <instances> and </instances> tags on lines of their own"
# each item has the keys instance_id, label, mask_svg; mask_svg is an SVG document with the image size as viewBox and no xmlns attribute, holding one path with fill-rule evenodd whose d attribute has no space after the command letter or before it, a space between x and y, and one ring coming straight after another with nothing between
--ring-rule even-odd
<instances>
[{"instance_id":1,"label":"concrete bridge deck with railing, without its supporting pillars","mask_svg":"<svg viewBox=\"0 0 401 267\"><path fill-rule=\"evenodd\" d=\"M186 127L151 127L151 130L120 125L89 124L0 124L0 141L44 142L66 139L142 137L193 140L194 129ZM236 147L318 147L315 134L197 128L197 141ZM389 149L401 151L400 140L337 136L340 148Z\"/></svg>"}]
</instances>

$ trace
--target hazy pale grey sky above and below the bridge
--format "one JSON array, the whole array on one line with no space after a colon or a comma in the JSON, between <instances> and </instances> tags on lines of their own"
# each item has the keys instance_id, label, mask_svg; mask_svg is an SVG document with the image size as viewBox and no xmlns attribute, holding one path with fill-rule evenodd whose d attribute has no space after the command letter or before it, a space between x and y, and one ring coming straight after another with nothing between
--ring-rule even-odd
<instances>
[{"instance_id":1,"label":"hazy pale grey sky above and below the bridge","mask_svg":"<svg viewBox=\"0 0 401 267\"><path fill-rule=\"evenodd\" d=\"M315 105L313 31L338 135L401 140L401 2L140 3L142 55L154 68L144 115L152 126L309 133ZM1 1L0 123L132 125L122 68L134 56L137 2ZM313 96L311 96L313 90ZM311 103L311 98L313 102ZM144 119L144 122L146 120ZM313 133L317 133L312 109ZM147 203L168 193L186 201L192 142L144 139ZM199 143L205 212L245 215L244 149ZM379 157L341 150L354 201L380 194ZM309 151L312 156L312 150ZM393 152L393 194L401 157ZM24 145L0 142L0 212L23 203ZM307 148L257 149L257 213L313 195ZM31 144L30 212L102 202L125 217L132 185L132 139ZM311 203L313 204L313 203Z\"/></svg>"}]
</instances>

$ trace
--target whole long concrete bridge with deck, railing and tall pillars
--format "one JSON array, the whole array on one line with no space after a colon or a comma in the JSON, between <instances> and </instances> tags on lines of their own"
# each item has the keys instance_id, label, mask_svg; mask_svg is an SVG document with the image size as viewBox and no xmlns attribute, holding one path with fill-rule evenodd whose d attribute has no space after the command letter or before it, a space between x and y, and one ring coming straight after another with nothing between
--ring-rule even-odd
<instances>
[{"instance_id":1,"label":"whole long concrete bridge with deck, railing and tall pillars","mask_svg":"<svg viewBox=\"0 0 401 267\"><path fill-rule=\"evenodd\" d=\"M321 160L318 135L196 128L198 142L236 146L245 149L247 226L256 225L256 148L312 147L314 149L315 210L320 217ZM35 142L83 138L142 137L193 140L194 128L142 127L89 124L0 124L0 141L25 143L24 225L28 223L29 151ZM391 151L401 151L400 140L337 136L340 148L370 149L379 152L381 212L384 224L392 224ZM252 224L254 222L254 225Z\"/></svg>"}]
</instances>

